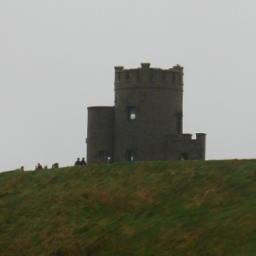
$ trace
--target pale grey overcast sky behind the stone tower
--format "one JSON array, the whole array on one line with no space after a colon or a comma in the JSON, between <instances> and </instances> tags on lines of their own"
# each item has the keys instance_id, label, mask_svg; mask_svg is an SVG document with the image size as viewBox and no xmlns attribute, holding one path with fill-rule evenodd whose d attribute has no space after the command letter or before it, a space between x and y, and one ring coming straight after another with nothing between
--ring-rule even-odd
<instances>
[{"instance_id":1,"label":"pale grey overcast sky behind the stone tower","mask_svg":"<svg viewBox=\"0 0 256 256\"><path fill-rule=\"evenodd\" d=\"M183 132L256 158L256 1L0 0L0 172L86 156L114 66L184 67ZM195 137L195 136L194 136Z\"/></svg>"}]
</instances>

